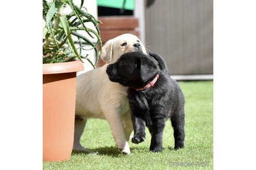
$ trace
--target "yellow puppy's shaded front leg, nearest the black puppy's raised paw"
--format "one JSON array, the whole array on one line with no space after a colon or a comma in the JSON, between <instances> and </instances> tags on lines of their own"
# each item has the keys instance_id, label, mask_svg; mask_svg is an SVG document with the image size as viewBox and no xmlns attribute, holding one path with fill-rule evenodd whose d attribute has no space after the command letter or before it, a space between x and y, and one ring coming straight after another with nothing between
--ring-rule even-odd
<instances>
[{"instance_id":1,"label":"yellow puppy's shaded front leg, nearest the black puppy's raised paw","mask_svg":"<svg viewBox=\"0 0 256 170\"><path fill-rule=\"evenodd\" d=\"M129 141L131 133L133 131L133 122L132 122L130 110L125 112L125 114L122 116L122 122L124 125L125 138L127 141Z\"/></svg>"}]
</instances>

